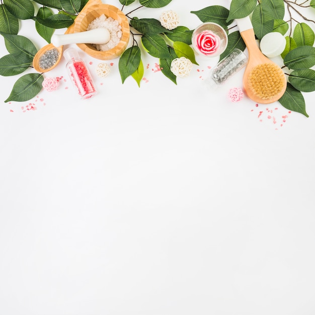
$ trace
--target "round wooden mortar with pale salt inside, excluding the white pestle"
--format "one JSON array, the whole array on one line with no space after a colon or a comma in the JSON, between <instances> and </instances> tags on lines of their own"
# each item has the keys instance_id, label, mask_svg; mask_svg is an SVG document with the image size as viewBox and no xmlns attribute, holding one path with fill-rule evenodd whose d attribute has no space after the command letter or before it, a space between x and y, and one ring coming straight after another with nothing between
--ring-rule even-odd
<instances>
[{"instance_id":1,"label":"round wooden mortar with pale salt inside, excluding the white pestle","mask_svg":"<svg viewBox=\"0 0 315 315\"><path fill-rule=\"evenodd\" d=\"M112 5L93 5L84 14L74 20L74 32L105 27L110 32L110 40L106 44L77 44L88 55L109 60L119 57L126 49L130 28L127 17Z\"/></svg>"}]
</instances>

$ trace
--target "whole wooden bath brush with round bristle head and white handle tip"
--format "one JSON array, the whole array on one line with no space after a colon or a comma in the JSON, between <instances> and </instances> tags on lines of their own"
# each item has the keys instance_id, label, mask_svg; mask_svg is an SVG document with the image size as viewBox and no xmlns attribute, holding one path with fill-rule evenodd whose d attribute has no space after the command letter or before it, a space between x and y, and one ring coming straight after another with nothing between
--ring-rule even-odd
<instances>
[{"instance_id":1,"label":"whole wooden bath brush with round bristle head and white handle tip","mask_svg":"<svg viewBox=\"0 0 315 315\"><path fill-rule=\"evenodd\" d=\"M249 53L243 76L246 94L257 103L270 104L278 101L286 90L287 82L284 72L258 48L250 18L236 21Z\"/></svg>"}]
</instances>

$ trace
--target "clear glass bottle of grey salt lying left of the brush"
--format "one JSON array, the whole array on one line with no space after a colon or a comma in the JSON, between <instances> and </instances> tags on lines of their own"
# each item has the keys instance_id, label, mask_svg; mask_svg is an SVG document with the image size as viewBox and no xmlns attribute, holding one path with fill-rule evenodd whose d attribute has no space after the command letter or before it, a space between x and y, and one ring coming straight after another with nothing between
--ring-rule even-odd
<instances>
[{"instance_id":1,"label":"clear glass bottle of grey salt lying left of the brush","mask_svg":"<svg viewBox=\"0 0 315 315\"><path fill-rule=\"evenodd\" d=\"M247 61L246 54L242 50L234 48L211 69L210 75L206 79L206 85L211 88L222 85L232 75L240 71L247 64Z\"/></svg>"}]
</instances>

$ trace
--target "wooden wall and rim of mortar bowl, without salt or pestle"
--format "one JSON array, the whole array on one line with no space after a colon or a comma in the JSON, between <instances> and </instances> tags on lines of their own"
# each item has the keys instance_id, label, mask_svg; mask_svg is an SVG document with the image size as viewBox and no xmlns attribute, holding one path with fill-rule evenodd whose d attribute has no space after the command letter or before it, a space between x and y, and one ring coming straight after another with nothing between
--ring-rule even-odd
<instances>
[{"instance_id":1,"label":"wooden wall and rim of mortar bowl, without salt or pestle","mask_svg":"<svg viewBox=\"0 0 315 315\"><path fill-rule=\"evenodd\" d=\"M86 12L79 15L74 20L74 33L86 31L89 24L102 14L104 14L107 18L111 17L118 21L122 31L120 42L114 48L106 51L98 51L92 44L76 45L88 55L96 59L110 60L119 57L124 52L130 38L128 19L118 8L105 4L91 6Z\"/></svg>"}]
</instances>

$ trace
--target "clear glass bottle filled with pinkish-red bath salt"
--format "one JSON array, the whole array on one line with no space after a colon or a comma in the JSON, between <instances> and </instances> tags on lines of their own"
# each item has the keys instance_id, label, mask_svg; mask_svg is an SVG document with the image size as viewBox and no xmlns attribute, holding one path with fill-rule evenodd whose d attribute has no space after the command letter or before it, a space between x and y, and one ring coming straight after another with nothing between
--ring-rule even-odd
<instances>
[{"instance_id":1,"label":"clear glass bottle filled with pinkish-red bath salt","mask_svg":"<svg viewBox=\"0 0 315 315\"><path fill-rule=\"evenodd\" d=\"M91 73L85 62L80 58L78 52L74 48L67 48L63 52L63 57L66 59L66 68L73 83L77 88L81 99L89 99L96 95L95 85L92 80Z\"/></svg>"}]
</instances>

